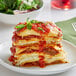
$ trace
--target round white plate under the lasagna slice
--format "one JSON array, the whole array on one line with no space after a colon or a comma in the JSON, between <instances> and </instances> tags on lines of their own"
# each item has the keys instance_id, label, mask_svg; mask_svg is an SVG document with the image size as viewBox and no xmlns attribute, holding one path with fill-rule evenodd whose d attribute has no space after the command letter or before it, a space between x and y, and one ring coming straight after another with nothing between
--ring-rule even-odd
<instances>
[{"instance_id":1,"label":"round white plate under the lasagna slice","mask_svg":"<svg viewBox=\"0 0 76 76\"><path fill-rule=\"evenodd\" d=\"M20 73L25 73L25 74L48 75L48 74L61 73L76 66L76 47L65 40L62 41L62 44L63 44L63 49L67 52L67 58L69 59L70 63L49 65L45 68L39 68L39 67L21 68L21 67L12 66L11 63L8 61L8 57L11 54L10 53L11 45L9 41L0 45L0 64L10 70Z\"/></svg>"}]
</instances>

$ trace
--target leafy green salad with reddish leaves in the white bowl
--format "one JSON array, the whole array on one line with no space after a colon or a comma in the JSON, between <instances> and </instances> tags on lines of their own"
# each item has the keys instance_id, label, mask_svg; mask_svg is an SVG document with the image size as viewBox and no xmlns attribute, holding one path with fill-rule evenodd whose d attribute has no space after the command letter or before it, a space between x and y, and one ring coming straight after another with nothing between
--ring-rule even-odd
<instances>
[{"instance_id":1,"label":"leafy green salad with reddish leaves in the white bowl","mask_svg":"<svg viewBox=\"0 0 76 76\"><path fill-rule=\"evenodd\" d=\"M42 6L42 0L0 0L0 12L14 14L14 11L30 12Z\"/></svg>"}]
</instances>

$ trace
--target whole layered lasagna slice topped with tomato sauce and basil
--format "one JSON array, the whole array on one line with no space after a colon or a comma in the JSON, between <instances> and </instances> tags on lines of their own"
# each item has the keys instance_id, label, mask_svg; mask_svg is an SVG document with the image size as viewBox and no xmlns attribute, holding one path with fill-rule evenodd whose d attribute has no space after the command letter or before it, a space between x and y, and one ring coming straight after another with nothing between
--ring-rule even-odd
<instances>
[{"instance_id":1,"label":"whole layered lasagna slice topped with tomato sauce and basil","mask_svg":"<svg viewBox=\"0 0 76 76\"><path fill-rule=\"evenodd\" d=\"M41 68L67 63L61 40L62 31L52 22L28 20L19 23L13 33L9 61L15 66Z\"/></svg>"}]
</instances>

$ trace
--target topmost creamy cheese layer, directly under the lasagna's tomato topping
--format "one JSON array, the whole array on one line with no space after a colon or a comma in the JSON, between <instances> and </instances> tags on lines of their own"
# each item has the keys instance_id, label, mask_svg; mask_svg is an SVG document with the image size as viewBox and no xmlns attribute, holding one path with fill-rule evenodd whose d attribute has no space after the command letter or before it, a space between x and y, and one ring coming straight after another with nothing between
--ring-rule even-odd
<instances>
[{"instance_id":1,"label":"topmost creamy cheese layer, directly under the lasagna's tomato topping","mask_svg":"<svg viewBox=\"0 0 76 76\"><path fill-rule=\"evenodd\" d=\"M42 34L42 36L55 36L55 37L58 37L58 29L57 28L54 28L53 30L50 30L50 32L48 34ZM36 35L36 36L41 36L40 33L34 31L33 29L29 30L29 29L26 29L24 31L21 31L17 34L18 36L28 36L28 35Z\"/></svg>"}]
</instances>

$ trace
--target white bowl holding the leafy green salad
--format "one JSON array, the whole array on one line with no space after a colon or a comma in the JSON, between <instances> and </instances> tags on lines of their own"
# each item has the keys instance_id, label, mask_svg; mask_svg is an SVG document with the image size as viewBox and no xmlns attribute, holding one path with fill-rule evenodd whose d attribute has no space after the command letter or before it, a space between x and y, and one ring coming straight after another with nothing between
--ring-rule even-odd
<instances>
[{"instance_id":1,"label":"white bowl holding the leafy green salad","mask_svg":"<svg viewBox=\"0 0 76 76\"><path fill-rule=\"evenodd\" d=\"M24 22L27 18L34 19L38 16L39 12L42 11L42 9L44 8L43 0L40 0L40 2L41 7L39 9L27 13L21 13L21 14L0 13L0 22L9 25L16 25L19 22Z\"/></svg>"}]
</instances>

